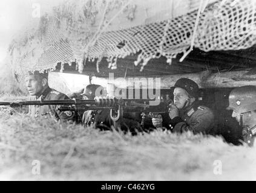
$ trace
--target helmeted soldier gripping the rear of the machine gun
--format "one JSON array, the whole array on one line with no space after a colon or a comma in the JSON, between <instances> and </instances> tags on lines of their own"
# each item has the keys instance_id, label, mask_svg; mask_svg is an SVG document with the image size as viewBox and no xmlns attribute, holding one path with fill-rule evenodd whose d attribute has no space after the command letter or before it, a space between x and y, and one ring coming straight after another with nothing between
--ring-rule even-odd
<instances>
[{"instance_id":1,"label":"helmeted soldier gripping the rear of the machine gun","mask_svg":"<svg viewBox=\"0 0 256 193\"><path fill-rule=\"evenodd\" d=\"M163 126L177 133L192 131L210 134L214 129L214 114L208 107L199 106L197 83L188 78L180 78L171 89L174 104L170 104L169 113L153 118L153 125Z\"/></svg>"}]
</instances>

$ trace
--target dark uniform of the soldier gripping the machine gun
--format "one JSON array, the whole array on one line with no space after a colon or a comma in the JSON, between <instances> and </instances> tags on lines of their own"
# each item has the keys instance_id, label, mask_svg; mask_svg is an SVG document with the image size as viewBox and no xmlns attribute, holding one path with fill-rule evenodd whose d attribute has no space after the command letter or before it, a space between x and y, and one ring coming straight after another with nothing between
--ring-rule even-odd
<instances>
[{"instance_id":1,"label":"dark uniform of the soldier gripping the machine gun","mask_svg":"<svg viewBox=\"0 0 256 193\"><path fill-rule=\"evenodd\" d=\"M167 114L167 113L166 113ZM163 115L163 119L166 120ZM205 106L193 106L185 112L179 112L179 116L173 119L163 121L163 127L182 133L183 131L192 131L193 133L214 133L214 113Z\"/></svg>"}]
</instances>

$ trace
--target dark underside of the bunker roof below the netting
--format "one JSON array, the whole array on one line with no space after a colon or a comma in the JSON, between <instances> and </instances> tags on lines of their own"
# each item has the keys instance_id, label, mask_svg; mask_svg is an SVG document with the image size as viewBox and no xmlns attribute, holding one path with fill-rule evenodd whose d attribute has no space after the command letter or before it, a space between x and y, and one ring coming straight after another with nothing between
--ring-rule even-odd
<instances>
[{"instance_id":1,"label":"dark underside of the bunker roof below the netting","mask_svg":"<svg viewBox=\"0 0 256 193\"><path fill-rule=\"evenodd\" d=\"M108 73L114 73L115 77L137 77L169 74L187 74L211 70L212 72L234 71L237 69L254 68L256 63L256 45L248 49L238 51L209 51L204 52L195 48L183 62L179 62L182 54L172 59L171 65L166 63L165 57L151 59L148 65L140 72L140 66L134 66L138 54L130 55L125 59L117 59L117 69L109 69L106 59L102 59L99 64L100 70L97 72L96 61L87 61L82 74L96 77L108 77ZM61 70L61 65L56 66L56 72ZM66 63L64 71L66 73L80 74L76 70L76 63L71 66Z\"/></svg>"}]
</instances>

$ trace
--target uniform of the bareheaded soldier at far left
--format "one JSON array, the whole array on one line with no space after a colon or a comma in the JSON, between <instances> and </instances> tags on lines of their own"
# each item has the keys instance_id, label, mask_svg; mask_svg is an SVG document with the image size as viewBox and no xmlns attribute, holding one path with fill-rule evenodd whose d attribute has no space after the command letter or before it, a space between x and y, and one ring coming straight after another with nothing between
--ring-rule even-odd
<instances>
[{"instance_id":1,"label":"uniform of the bareheaded soldier at far left","mask_svg":"<svg viewBox=\"0 0 256 193\"><path fill-rule=\"evenodd\" d=\"M30 96L31 101L50 101L50 100L70 100L67 95L61 92L57 92L50 87L47 87L40 96ZM60 112L57 110L57 105L44 105L44 106L29 106L29 115L33 118L39 116L54 117L56 120L71 120L73 119L74 113L71 111Z\"/></svg>"}]
</instances>

